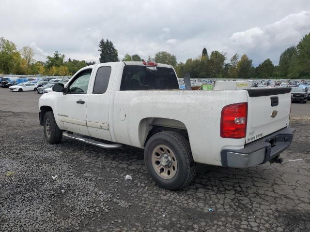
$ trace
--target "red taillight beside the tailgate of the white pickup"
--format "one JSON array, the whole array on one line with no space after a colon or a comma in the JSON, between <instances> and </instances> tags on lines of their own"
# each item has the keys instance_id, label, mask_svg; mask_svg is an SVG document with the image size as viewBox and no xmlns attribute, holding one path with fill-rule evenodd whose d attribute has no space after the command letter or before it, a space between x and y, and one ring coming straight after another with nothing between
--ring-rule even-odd
<instances>
[{"instance_id":1,"label":"red taillight beside the tailgate of the white pickup","mask_svg":"<svg viewBox=\"0 0 310 232\"><path fill-rule=\"evenodd\" d=\"M227 105L221 114L221 137L240 139L247 134L248 103Z\"/></svg>"}]
</instances>

